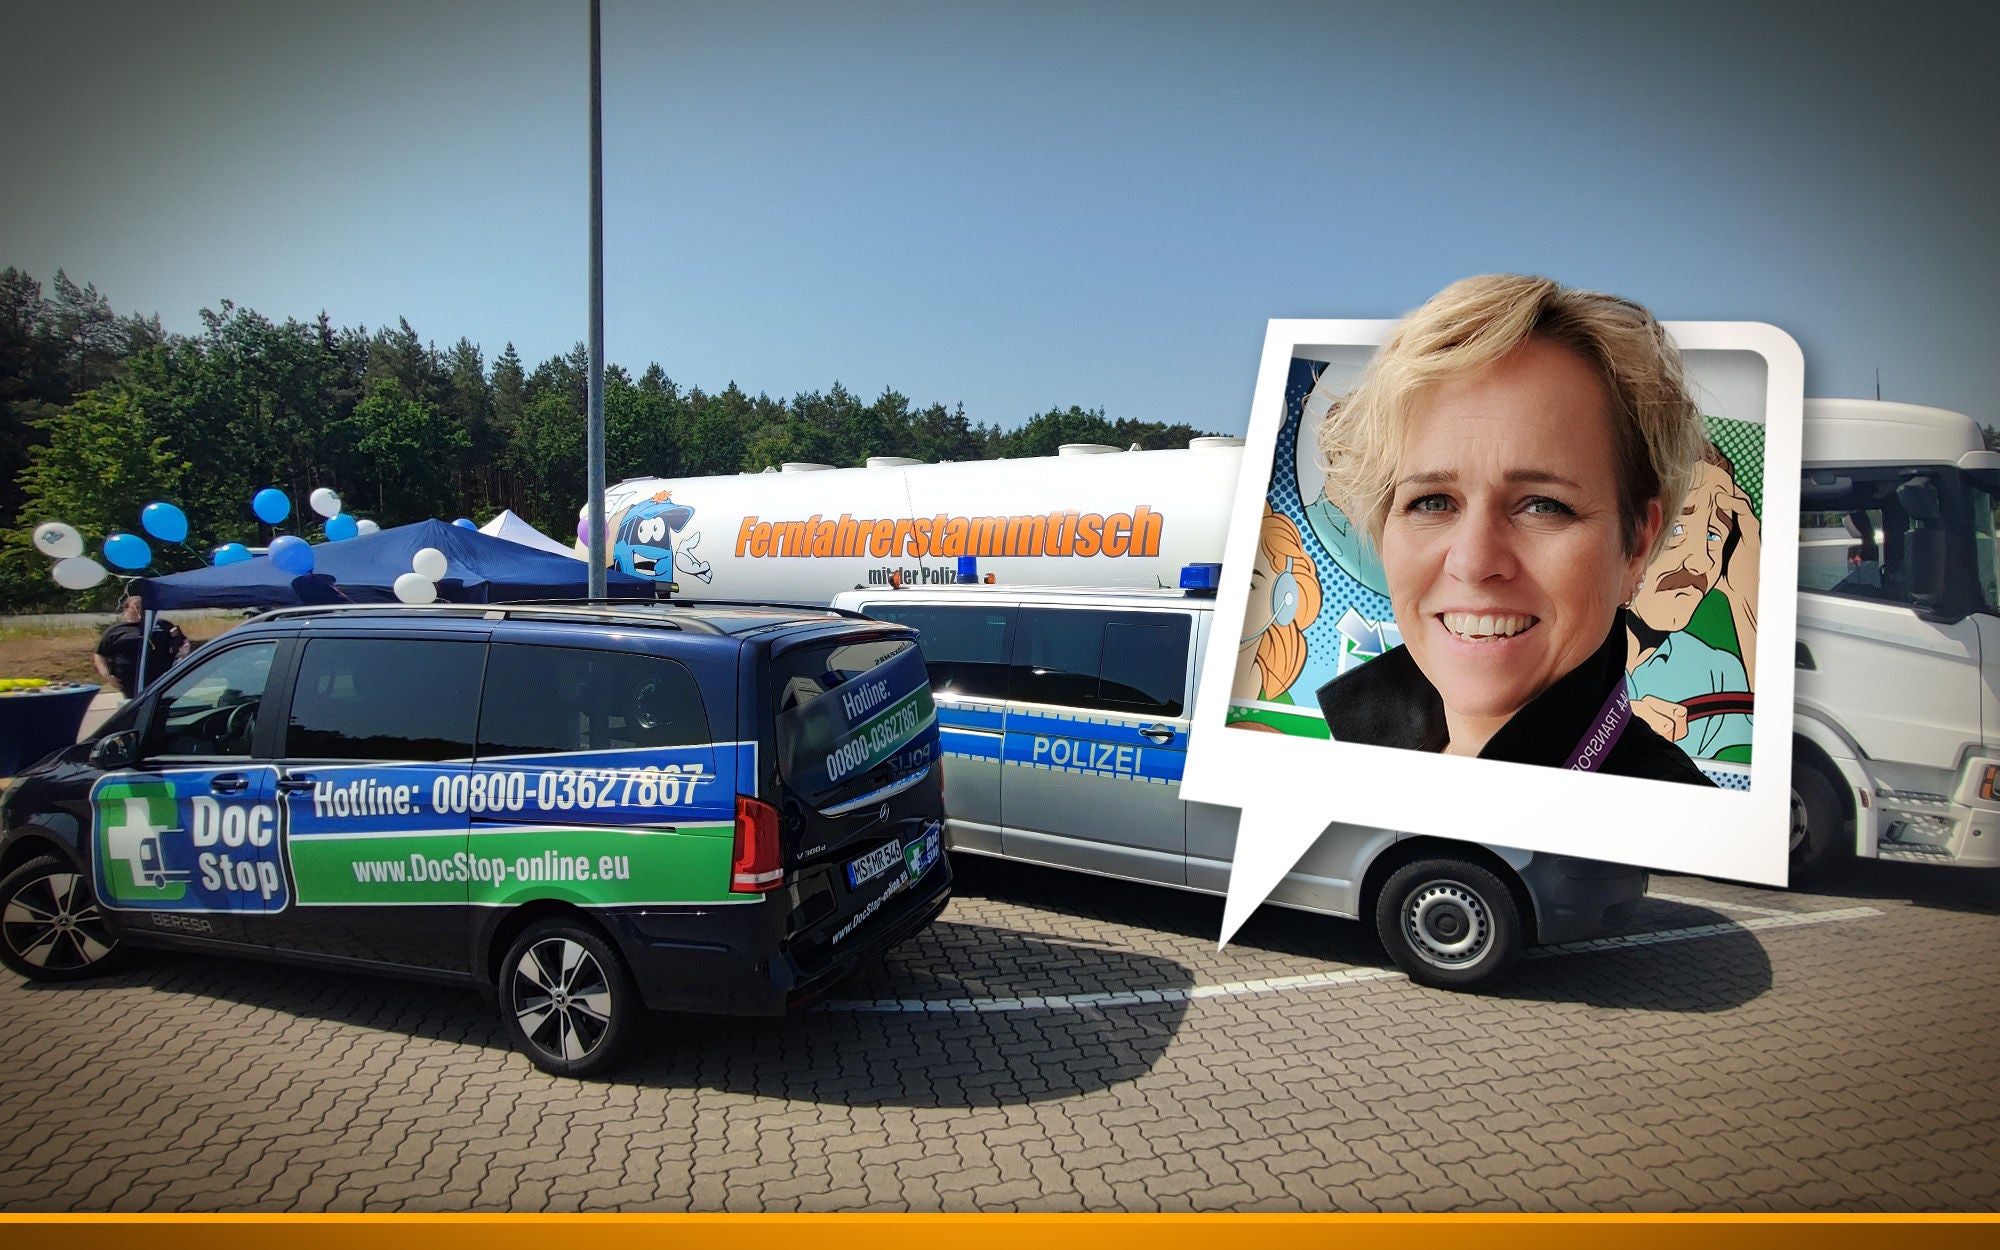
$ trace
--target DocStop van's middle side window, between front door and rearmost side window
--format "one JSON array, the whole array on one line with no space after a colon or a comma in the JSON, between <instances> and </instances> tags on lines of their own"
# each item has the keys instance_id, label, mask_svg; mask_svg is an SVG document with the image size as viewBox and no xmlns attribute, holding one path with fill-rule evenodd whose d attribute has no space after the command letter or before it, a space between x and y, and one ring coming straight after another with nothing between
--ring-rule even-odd
<instances>
[{"instance_id":1,"label":"DocStop van's middle side window, between front door and rearmost side window","mask_svg":"<svg viewBox=\"0 0 2000 1250\"><path fill-rule=\"evenodd\" d=\"M284 754L466 760L484 662L484 642L314 638L298 664Z\"/></svg>"}]
</instances>

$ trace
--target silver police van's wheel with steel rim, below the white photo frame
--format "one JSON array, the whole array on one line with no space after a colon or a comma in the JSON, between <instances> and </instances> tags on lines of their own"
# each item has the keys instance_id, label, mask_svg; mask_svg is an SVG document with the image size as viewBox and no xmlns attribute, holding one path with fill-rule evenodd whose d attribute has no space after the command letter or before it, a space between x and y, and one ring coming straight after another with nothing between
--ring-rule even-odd
<instances>
[{"instance_id":1,"label":"silver police van's wheel with steel rim, below the white photo frame","mask_svg":"<svg viewBox=\"0 0 2000 1250\"><path fill-rule=\"evenodd\" d=\"M1376 898L1376 934L1410 980L1464 990L1520 956L1520 910L1506 884L1468 860L1404 864Z\"/></svg>"}]
</instances>

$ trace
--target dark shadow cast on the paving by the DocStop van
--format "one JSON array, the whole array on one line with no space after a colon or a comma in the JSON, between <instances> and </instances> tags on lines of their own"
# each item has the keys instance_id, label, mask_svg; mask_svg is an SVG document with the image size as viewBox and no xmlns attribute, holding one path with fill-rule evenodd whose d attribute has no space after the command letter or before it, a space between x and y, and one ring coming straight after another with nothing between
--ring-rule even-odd
<instances>
[{"instance_id":1,"label":"dark shadow cast on the paving by the DocStop van","mask_svg":"<svg viewBox=\"0 0 2000 1250\"><path fill-rule=\"evenodd\" d=\"M512 1056L496 1010L470 988L362 972L288 968L250 958L142 952L124 974L36 994L146 986L254 1006L300 1020L480 1046ZM842 1008L788 1018L668 1016L606 1078L844 1106L1000 1106L1068 1098L1144 1076L1166 1050L1186 998L1028 1010L850 1010L868 1000L990 1000L1116 990L1186 990L1174 960L978 924L936 922L882 966L834 988ZM562 1084L560 1078L540 1078Z\"/></svg>"}]
</instances>

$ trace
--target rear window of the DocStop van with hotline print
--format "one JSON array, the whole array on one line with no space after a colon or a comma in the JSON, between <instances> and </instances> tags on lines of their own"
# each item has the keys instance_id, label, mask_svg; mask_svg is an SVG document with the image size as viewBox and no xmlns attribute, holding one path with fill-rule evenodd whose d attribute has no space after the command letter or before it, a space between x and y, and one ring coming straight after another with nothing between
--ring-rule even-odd
<instances>
[{"instance_id":1,"label":"rear window of the DocStop van with hotline print","mask_svg":"<svg viewBox=\"0 0 2000 1250\"><path fill-rule=\"evenodd\" d=\"M866 798L930 768L938 714L912 638L788 652L772 664L778 778L814 808Z\"/></svg>"}]
</instances>

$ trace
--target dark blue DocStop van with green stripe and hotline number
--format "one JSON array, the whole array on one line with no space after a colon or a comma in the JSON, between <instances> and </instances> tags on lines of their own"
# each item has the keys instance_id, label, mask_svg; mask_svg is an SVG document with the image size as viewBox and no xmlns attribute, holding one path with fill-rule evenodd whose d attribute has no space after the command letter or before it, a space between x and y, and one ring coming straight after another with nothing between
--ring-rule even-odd
<instances>
[{"instance_id":1,"label":"dark blue DocStop van with green stripe and hotline number","mask_svg":"<svg viewBox=\"0 0 2000 1250\"><path fill-rule=\"evenodd\" d=\"M944 908L914 632L744 604L272 612L0 800L0 962L472 982L544 1070L782 1014Z\"/></svg>"}]
</instances>

